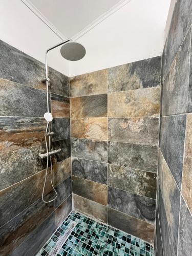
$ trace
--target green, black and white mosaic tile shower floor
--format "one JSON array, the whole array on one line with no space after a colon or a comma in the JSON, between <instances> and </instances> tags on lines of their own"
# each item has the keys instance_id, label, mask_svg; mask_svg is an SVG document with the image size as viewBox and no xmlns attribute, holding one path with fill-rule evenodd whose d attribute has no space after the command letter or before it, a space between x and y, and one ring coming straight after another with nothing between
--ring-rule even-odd
<instances>
[{"instance_id":1,"label":"green, black and white mosaic tile shower floor","mask_svg":"<svg viewBox=\"0 0 192 256\"><path fill-rule=\"evenodd\" d=\"M78 212L72 212L58 227L36 256L48 256L58 238L63 236L72 222L76 227L56 254L61 255L132 255L154 256L153 246L111 226L94 221Z\"/></svg>"}]
</instances>

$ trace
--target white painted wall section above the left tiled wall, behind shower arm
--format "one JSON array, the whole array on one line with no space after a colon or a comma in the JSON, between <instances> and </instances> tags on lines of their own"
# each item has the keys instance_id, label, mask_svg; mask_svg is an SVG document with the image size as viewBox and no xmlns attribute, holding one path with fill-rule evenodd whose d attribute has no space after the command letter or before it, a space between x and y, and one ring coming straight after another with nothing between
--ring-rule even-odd
<instances>
[{"instance_id":1,"label":"white painted wall section above the left tiled wall, behind shower arm","mask_svg":"<svg viewBox=\"0 0 192 256\"><path fill-rule=\"evenodd\" d=\"M0 0L0 39L41 62L45 62L45 50L61 41L20 0ZM69 76L69 61L59 49L49 53L48 64Z\"/></svg>"}]
</instances>

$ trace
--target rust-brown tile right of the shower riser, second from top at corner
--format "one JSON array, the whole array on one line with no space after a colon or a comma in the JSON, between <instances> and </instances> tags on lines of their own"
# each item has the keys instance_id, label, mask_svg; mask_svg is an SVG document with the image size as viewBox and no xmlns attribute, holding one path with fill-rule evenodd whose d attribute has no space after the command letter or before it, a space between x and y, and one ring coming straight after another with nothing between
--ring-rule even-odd
<instances>
[{"instance_id":1,"label":"rust-brown tile right of the shower riser, second from top at corner","mask_svg":"<svg viewBox=\"0 0 192 256\"><path fill-rule=\"evenodd\" d=\"M70 99L51 93L51 113L54 118L70 117Z\"/></svg>"}]
</instances>

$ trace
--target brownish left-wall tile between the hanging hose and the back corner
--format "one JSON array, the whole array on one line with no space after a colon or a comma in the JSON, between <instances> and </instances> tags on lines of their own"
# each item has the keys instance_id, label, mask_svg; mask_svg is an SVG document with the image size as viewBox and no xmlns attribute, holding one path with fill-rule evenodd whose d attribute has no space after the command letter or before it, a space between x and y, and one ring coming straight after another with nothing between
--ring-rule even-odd
<instances>
[{"instance_id":1,"label":"brownish left-wall tile between the hanging hose and the back corner","mask_svg":"<svg viewBox=\"0 0 192 256\"><path fill-rule=\"evenodd\" d=\"M71 176L71 157L53 164L54 186Z\"/></svg>"}]
</instances>

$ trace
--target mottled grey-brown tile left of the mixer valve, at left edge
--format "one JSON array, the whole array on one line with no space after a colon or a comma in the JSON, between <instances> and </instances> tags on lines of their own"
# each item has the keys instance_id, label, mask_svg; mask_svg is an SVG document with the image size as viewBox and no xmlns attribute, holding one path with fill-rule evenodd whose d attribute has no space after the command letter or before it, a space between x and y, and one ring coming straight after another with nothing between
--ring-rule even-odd
<instances>
[{"instance_id":1,"label":"mottled grey-brown tile left of the mixer valve, at left edge","mask_svg":"<svg viewBox=\"0 0 192 256\"><path fill-rule=\"evenodd\" d=\"M0 190L45 169L46 160L38 156L45 152L45 145L40 145L1 154Z\"/></svg>"}]
</instances>

